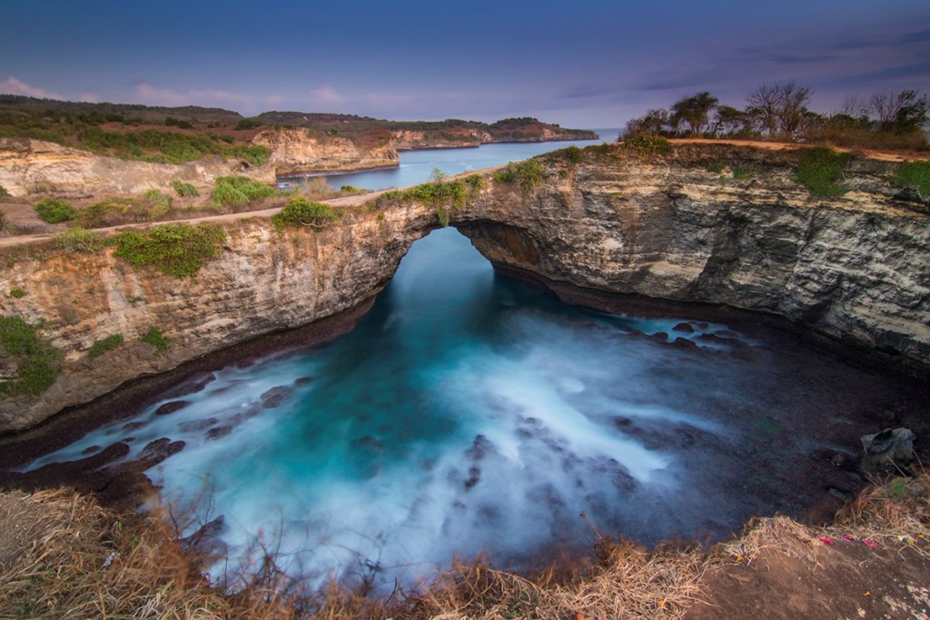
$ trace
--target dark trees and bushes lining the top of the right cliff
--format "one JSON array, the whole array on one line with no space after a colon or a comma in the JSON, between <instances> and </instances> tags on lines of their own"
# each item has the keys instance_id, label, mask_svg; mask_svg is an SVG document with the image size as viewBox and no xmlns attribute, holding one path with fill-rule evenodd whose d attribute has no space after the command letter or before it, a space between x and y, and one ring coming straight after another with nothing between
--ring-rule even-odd
<instances>
[{"instance_id":1,"label":"dark trees and bushes lining the top of the right cliff","mask_svg":"<svg viewBox=\"0 0 930 620\"><path fill-rule=\"evenodd\" d=\"M794 82L757 86L742 110L710 92L679 99L666 110L649 110L627 123L625 137L768 139L829 143L860 148L927 149L924 125L930 109L916 90L852 96L839 111L822 114L807 106L813 91Z\"/></svg>"}]
</instances>

